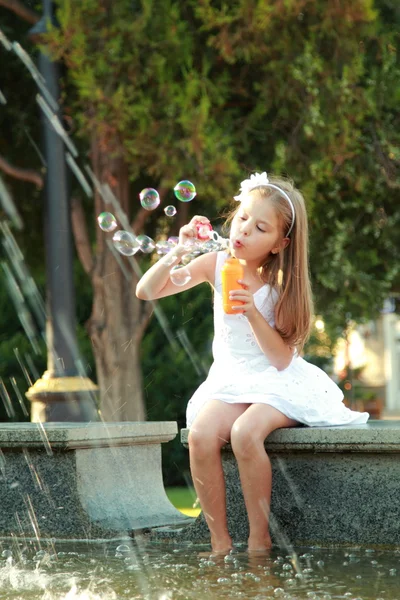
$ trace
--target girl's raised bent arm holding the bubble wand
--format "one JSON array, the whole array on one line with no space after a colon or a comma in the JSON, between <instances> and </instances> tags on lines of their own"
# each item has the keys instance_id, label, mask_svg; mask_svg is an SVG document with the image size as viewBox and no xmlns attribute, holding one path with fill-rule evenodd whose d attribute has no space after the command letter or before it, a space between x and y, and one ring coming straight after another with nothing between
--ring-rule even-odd
<instances>
[{"instance_id":1,"label":"girl's raised bent arm holding the bubble wand","mask_svg":"<svg viewBox=\"0 0 400 600\"><path fill-rule=\"evenodd\" d=\"M172 296L208 281L214 283L216 253L203 254L192 260L186 269L190 272L191 279L185 285L177 286L170 279L172 267L178 264L180 258L188 253L184 244L197 236L196 224L209 223L206 217L193 217L188 225L179 231L179 244L166 256L161 258L141 277L136 286L136 296L141 300L157 300L165 296ZM190 250L189 250L190 252ZM173 260L175 259L175 260Z\"/></svg>"}]
</instances>

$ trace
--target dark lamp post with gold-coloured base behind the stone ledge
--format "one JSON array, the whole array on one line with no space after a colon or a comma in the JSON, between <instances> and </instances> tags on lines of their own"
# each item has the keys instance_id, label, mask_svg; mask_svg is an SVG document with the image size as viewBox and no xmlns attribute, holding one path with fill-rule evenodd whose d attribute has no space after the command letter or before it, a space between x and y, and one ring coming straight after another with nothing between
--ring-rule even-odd
<instances>
[{"instance_id":1,"label":"dark lamp post with gold-coloured base behind the stone ledge","mask_svg":"<svg viewBox=\"0 0 400 600\"><path fill-rule=\"evenodd\" d=\"M37 41L54 23L51 0L43 4L43 17L30 30ZM39 70L46 86L59 99L59 65L44 53ZM60 118L60 115L57 115ZM82 373L76 340L73 250L70 202L67 185L65 148L61 137L42 115L45 179L45 242L47 303L47 371L29 388L26 397L32 404L31 421L98 420L97 386Z\"/></svg>"}]
</instances>

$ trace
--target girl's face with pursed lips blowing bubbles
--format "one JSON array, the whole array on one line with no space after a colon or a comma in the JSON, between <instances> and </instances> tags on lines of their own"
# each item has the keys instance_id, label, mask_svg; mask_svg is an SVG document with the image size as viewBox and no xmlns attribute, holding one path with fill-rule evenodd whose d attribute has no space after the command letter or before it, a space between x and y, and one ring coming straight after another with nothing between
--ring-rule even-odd
<instances>
[{"instance_id":1,"label":"girl's face with pursed lips blowing bubbles","mask_svg":"<svg viewBox=\"0 0 400 600\"><path fill-rule=\"evenodd\" d=\"M283 239L278 215L270 200L257 193L249 193L241 201L232 220L229 239L236 258L257 266L270 252L276 254L289 242Z\"/></svg>"}]
</instances>

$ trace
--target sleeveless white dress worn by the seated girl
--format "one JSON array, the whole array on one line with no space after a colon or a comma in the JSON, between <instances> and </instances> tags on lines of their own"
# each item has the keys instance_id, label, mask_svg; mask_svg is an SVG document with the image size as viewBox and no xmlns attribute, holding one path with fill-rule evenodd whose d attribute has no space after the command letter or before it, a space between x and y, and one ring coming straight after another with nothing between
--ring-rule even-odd
<instances>
[{"instance_id":1,"label":"sleeveless white dress worn by the seated girl","mask_svg":"<svg viewBox=\"0 0 400 600\"><path fill-rule=\"evenodd\" d=\"M214 285L213 357L207 379L189 400L186 420L190 427L208 400L233 404L269 404L290 419L310 426L366 423L368 413L347 408L343 393L328 375L295 355L278 371L271 365L243 314L227 315L222 307L221 268L228 255L217 253ZM254 294L254 303L271 327L278 294L265 284Z\"/></svg>"}]
</instances>

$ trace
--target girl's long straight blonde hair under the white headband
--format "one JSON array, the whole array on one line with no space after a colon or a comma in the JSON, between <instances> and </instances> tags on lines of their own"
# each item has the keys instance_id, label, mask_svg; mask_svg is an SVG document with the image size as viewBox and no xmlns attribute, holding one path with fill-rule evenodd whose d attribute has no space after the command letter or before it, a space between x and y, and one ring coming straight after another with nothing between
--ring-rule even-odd
<instances>
[{"instance_id":1,"label":"girl's long straight blonde hair under the white headband","mask_svg":"<svg viewBox=\"0 0 400 600\"><path fill-rule=\"evenodd\" d=\"M313 319L313 299L308 262L308 219L303 195L290 179L268 175L270 183L285 191L293 203L295 222L289 245L277 254L270 253L260 265L261 278L279 294L275 305L275 327L284 341L298 352L304 347ZM268 186L257 186L249 192L268 198L277 211L282 239L292 223L290 205L282 194ZM231 223L239 207L231 211L226 223Z\"/></svg>"}]
</instances>

